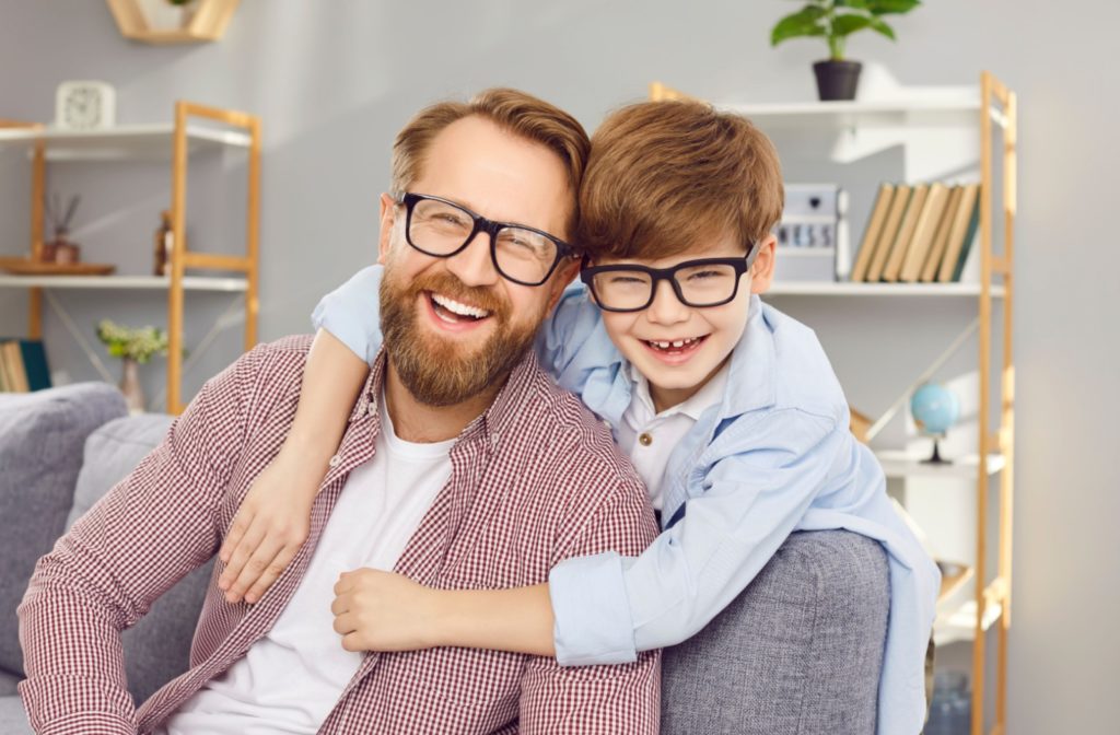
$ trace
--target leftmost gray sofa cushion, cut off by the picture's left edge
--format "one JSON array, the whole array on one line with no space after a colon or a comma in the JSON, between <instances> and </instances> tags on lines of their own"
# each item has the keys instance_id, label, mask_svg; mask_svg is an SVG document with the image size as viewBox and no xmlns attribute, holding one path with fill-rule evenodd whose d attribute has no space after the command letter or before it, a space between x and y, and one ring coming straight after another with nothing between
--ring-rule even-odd
<instances>
[{"instance_id":1,"label":"leftmost gray sofa cushion, cut off by the picture's left edge","mask_svg":"<svg viewBox=\"0 0 1120 735\"><path fill-rule=\"evenodd\" d=\"M16 608L66 525L85 439L127 412L108 383L0 394L0 669L24 672Z\"/></svg>"}]
</instances>

